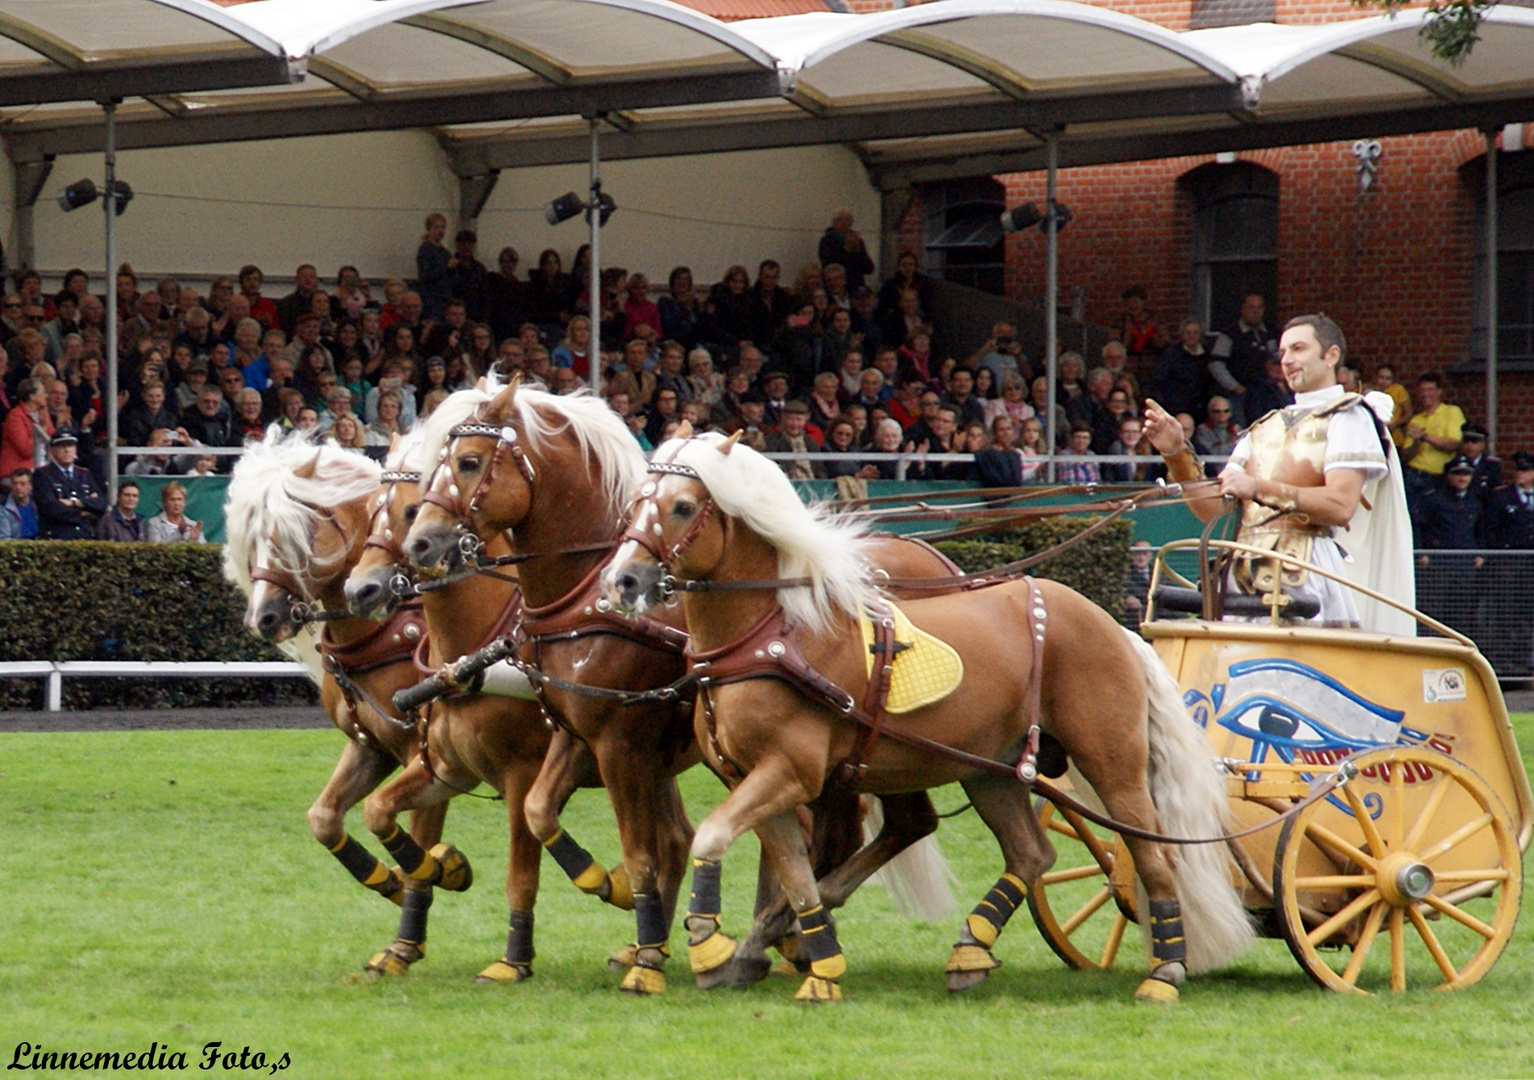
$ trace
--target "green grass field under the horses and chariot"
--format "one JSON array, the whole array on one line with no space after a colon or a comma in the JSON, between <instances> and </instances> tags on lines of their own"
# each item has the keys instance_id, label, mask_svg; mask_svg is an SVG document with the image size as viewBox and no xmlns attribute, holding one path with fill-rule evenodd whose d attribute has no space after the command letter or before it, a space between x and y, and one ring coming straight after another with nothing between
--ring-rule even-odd
<instances>
[{"instance_id":1,"label":"green grass field under the horses and chariot","mask_svg":"<svg viewBox=\"0 0 1534 1080\"><path fill-rule=\"evenodd\" d=\"M1517 726L1534 746L1534 716ZM546 859L537 977L476 986L505 945L506 839L505 808L474 799L448 816L474 888L439 896L426 960L407 979L368 980L362 963L393 937L396 908L304 825L339 747L313 730L0 735L0 1063L21 1042L158 1042L196 1072L219 1040L287 1052L291 1077L1534 1077L1531 920L1465 993L1345 999L1267 940L1157 1008L1131 1000L1138 942L1114 971L1068 971L1026 911L997 947L1005 966L951 997L942 965L957 917L902 922L871 887L839 916L841 1006L795 1005L796 980L778 977L704 994L680 928L667 994L641 1000L604 965L632 916L575 893ZM723 795L703 770L684 790L693 821ZM617 858L601 793L577 796L566 822ZM351 831L371 839L356 813ZM940 836L968 910L996 878L994 845L973 813ZM727 928L744 928L755 874L747 838L726 862Z\"/></svg>"}]
</instances>

